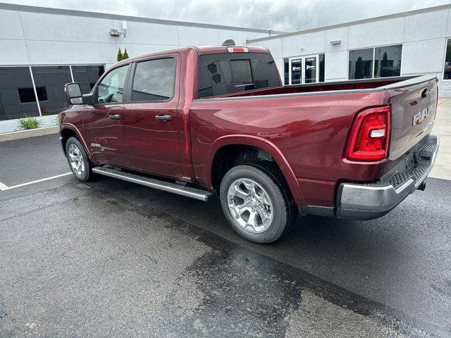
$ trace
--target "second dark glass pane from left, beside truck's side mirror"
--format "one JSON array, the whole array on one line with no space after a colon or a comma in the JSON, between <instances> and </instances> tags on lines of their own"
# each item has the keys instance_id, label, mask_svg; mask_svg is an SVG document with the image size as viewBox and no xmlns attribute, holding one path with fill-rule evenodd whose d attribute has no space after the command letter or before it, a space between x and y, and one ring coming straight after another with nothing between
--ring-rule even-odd
<instances>
[{"instance_id":1,"label":"second dark glass pane from left, beside truck's side mirror","mask_svg":"<svg viewBox=\"0 0 451 338\"><path fill-rule=\"evenodd\" d=\"M68 66L32 67L33 78L39 89L42 116L57 114L66 108L64 84L72 82Z\"/></svg>"}]
</instances>

